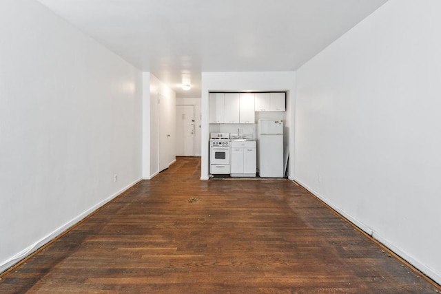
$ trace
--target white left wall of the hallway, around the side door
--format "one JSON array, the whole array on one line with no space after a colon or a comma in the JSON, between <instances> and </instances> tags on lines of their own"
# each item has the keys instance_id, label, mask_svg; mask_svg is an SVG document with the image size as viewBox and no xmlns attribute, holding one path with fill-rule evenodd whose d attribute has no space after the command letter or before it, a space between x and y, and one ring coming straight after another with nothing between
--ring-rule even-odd
<instances>
[{"instance_id":1,"label":"white left wall of the hallway, around the side door","mask_svg":"<svg viewBox=\"0 0 441 294\"><path fill-rule=\"evenodd\" d=\"M167 109L166 117L161 118L161 123L165 125L165 128L170 129L172 135L170 143L167 145L169 149L162 151L167 152L169 164L174 162L176 158L174 151L176 93L150 72L143 73L143 89L143 178L150 180L159 172L158 94L165 97L163 105L166 105Z\"/></svg>"}]
</instances>

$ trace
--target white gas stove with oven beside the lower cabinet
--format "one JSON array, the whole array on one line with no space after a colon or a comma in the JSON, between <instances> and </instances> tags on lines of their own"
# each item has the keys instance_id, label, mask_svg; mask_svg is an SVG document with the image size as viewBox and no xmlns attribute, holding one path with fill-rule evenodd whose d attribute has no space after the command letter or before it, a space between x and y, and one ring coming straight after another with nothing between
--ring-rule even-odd
<instances>
[{"instance_id":1,"label":"white gas stove with oven beside the lower cabinet","mask_svg":"<svg viewBox=\"0 0 441 294\"><path fill-rule=\"evenodd\" d=\"M232 144L229 133L210 133L209 138L209 173L229 174Z\"/></svg>"}]
</instances>

